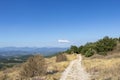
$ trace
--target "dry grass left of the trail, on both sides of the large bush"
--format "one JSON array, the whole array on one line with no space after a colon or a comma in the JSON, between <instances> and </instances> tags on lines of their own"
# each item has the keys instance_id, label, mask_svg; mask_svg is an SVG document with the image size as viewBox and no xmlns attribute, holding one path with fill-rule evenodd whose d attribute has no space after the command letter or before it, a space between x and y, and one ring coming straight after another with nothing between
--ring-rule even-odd
<instances>
[{"instance_id":1,"label":"dry grass left of the trail, on both sides of the large bush","mask_svg":"<svg viewBox=\"0 0 120 80\"><path fill-rule=\"evenodd\" d=\"M65 54L67 56L67 61L56 62L56 57L45 58L47 62L47 71L57 71L54 74L47 74L45 80L59 80L62 72L69 65L71 60L76 58L75 54ZM21 70L21 65L13 68L8 68L4 71L0 71L0 80L20 80L19 72ZM5 79L7 78L7 79Z\"/></svg>"}]
</instances>

